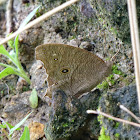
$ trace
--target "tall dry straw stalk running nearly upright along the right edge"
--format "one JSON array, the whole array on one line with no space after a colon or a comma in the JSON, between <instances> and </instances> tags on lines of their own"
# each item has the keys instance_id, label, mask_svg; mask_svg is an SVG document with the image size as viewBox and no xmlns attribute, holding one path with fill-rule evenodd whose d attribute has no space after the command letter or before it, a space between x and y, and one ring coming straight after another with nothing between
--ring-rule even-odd
<instances>
[{"instance_id":1,"label":"tall dry straw stalk running nearly upright along the right edge","mask_svg":"<svg viewBox=\"0 0 140 140\"><path fill-rule=\"evenodd\" d=\"M132 41L132 48L133 48L135 77L136 77L136 86L137 86L137 95L138 95L138 104L139 104L139 113L140 113L140 42L139 42L139 31L138 31L138 21L137 21L137 12L136 12L136 1L127 0L127 4L128 4L131 41Z\"/></svg>"}]
</instances>

